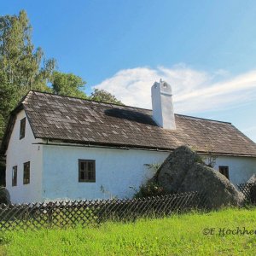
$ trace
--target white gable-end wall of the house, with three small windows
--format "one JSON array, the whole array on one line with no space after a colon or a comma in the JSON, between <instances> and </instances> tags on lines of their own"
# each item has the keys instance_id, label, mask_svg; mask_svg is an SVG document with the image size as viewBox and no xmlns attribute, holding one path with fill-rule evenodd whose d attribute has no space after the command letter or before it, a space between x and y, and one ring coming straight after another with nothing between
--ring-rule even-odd
<instances>
[{"instance_id":1,"label":"white gable-end wall of the house, with three small windows","mask_svg":"<svg viewBox=\"0 0 256 256\"><path fill-rule=\"evenodd\" d=\"M42 147L33 145L36 140L26 118L25 137L20 140L20 119L24 110L17 114L14 130L9 140L6 156L6 188L13 203L42 201ZM30 161L30 183L23 184L23 164ZM12 186L12 169L18 166L17 186Z\"/></svg>"}]
</instances>

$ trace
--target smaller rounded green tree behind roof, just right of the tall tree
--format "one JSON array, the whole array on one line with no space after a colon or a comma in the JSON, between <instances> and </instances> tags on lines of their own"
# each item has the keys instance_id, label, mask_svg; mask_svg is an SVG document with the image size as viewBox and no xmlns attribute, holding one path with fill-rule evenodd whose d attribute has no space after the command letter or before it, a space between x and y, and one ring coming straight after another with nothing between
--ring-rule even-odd
<instances>
[{"instance_id":1,"label":"smaller rounded green tree behind roof, just right of the tall tree","mask_svg":"<svg viewBox=\"0 0 256 256\"><path fill-rule=\"evenodd\" d=\"M86 82L73 73L61 73L54 71L51 76L51 86L55 94L64 96L76 96L86 99L86 94L82 91Z\"/></svg>"}]
</instances>

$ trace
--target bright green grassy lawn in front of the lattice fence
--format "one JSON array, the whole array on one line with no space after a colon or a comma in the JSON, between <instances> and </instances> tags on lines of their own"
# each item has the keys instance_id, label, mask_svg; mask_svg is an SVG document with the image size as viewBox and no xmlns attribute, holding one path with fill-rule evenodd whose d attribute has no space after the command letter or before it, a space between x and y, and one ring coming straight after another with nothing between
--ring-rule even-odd
<instances>
[{"instance_id":1,"label":"bright green grassy lawn in front of the lattice fence","mask_svg":"<svg viewBox=\"0 0 256 256\"><path fill-rule=\"evenodd\" d=\"M108 223L100 228L0 233L0 255L255 255L255 233L219 234L224 228L236 233L237 227L255 231L256 208ZM204 235L204 229L215 230Z\"/></svg>"}]
</instances>

